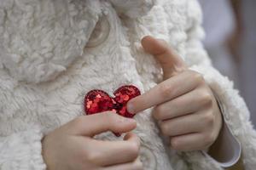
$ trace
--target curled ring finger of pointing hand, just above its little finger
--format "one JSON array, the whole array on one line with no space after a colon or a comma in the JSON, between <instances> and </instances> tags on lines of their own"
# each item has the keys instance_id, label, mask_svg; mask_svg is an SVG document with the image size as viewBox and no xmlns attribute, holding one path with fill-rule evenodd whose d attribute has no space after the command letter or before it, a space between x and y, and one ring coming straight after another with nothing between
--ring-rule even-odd
<instances>
[{"instance_id":1,"label":"curled ring finger of pointing hand, just above its little finger","mask_svg":"<svg viewBox=\"0 0 256 170\"><path fill-rule=\"evenodd\" d=\"M161 132L171 137L188 133L200 133L206 127L205 115L204 112L197 112L160 122Z\"/></svg>"}]
</instances>

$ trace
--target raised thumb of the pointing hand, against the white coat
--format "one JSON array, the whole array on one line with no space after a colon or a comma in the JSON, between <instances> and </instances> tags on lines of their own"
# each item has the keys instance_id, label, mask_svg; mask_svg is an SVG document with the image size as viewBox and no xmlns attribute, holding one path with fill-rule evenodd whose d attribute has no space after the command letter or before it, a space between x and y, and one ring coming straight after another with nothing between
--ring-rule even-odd
<instances>
[{"instance_id":1,"label":"raised thumb of the pointing hand, against the white coat","mask_svg":"<svg viewBox=\"0 0 256 170\"><path fill-rule=\"evenodd\" d=\"M147 36L143 37L142 44L145 51L153 54L155 59L160 62L164 72L164 80L186 69L183 59L174 53L167 42Z\"/></svg>"}]
</instances>

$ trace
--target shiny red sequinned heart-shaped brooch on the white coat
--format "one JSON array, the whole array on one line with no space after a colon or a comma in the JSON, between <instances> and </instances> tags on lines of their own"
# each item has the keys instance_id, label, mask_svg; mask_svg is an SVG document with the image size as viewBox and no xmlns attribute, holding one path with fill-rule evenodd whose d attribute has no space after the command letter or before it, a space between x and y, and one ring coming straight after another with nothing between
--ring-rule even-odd
<instances>
[{"instance_id":1,"label":"shiny red sequinned heart-shaped brooch on the white coat","mask_svg":"<svg viewBox=\"0 0 256 170\"><path fill-rule=\"evenodd\" d=\"M115 111L120 116L132 118L134 114L127 111L127 103L130 99L140 95L140 90L133 85L125 85L113 92L114 97L108 93L94 89L88 92L84 98L84 111L86 115L92 115L103 111ZM114 133L120 136L120 133Z\"/></svg>"}]
</instances>

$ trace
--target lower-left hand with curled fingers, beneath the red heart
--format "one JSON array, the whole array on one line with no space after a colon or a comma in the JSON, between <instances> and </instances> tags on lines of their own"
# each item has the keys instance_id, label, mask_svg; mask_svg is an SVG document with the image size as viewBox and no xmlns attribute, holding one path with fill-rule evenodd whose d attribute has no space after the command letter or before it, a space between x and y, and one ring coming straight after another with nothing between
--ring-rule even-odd
<instances>
[{"instance_id":1,"label":"lower-left hand with curled fingers, beneath the red heart","mask_svg":"<svg viewBox=\"0 0 256 170\"><path fill-rule=\"evenodd\" d=\"M140 140L127 133L124 141L92 139L108 130L126 133L136 127L133 119L113 112L80 116L45 136L43 156L49 170L140 170Z\"/></svg>"}]
</instances>

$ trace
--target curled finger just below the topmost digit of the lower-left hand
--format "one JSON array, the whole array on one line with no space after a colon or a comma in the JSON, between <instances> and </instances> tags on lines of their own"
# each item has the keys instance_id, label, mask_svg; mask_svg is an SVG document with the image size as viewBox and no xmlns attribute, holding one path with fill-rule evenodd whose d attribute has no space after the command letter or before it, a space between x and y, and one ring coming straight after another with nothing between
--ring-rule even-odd
<instances>
[{"instance_id":1,"label":"curled finger just below the topmost digit of the lower-left hand","mask_svg":"<svg viewBox=\"0 0 256 170\"><path fill-rule=\"evenodd\" d=\"M139 154L140 139L133 133L125 136L125 141L96 140L86 145L88 150L95 148L90 161L100 166L112 166L135 161Z\"/></svg>"}]
</instances>

